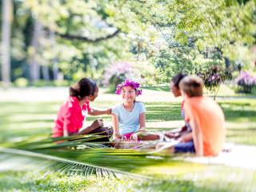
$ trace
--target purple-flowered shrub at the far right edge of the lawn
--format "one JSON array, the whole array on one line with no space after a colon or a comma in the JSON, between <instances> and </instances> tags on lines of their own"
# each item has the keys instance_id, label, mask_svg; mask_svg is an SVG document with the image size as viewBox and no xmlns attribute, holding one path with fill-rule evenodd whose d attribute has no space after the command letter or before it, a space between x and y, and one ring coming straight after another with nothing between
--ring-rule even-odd
<instances>
[{"instance_id":1,"label":"purple-flowered shrub at the far right edge of the lawn","mask_svg":"<svg viewBox=\"0 0 256 192\"><path fill-rule=\"evenodd\" d=\"M238 92L250 94L252 88L256 86L256 77L251 76L247 71L241 71L234 82L238 85Z\"/></svg>"}]
</instances>

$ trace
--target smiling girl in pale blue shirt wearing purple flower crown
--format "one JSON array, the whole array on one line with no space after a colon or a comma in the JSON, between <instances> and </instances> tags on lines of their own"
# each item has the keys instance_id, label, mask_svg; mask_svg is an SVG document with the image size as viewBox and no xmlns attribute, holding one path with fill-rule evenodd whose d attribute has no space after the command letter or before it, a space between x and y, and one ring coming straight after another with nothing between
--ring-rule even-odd
<instances>
[{"instance_id":1,"label":"smiling girl in pale blue shirt wearing purple flower crown","mask_svg":"<svg viewBox=\"0 0 256 192\"><path fill-rule=\"evenodd\" d=\"M155 140L158 135L136 134L145 132L146 117L145 106L142 102L136 102L136 96L142 94L139 83L127 80L117 86L116 94L122 95L123 102L112 109L112 122L114 138L126 140Z\"/></svg>"}]
</instances>

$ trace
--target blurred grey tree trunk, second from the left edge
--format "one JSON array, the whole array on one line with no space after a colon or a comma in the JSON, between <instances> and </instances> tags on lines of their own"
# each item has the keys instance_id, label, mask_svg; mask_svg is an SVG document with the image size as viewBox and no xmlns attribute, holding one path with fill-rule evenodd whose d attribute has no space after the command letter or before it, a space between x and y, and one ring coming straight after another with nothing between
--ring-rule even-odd
<instances>
[{"instance_id":1,"label":"blurred grey tree trunk, second from the left edge","mask_svg":"<svg viewBox=\"0 0 256 192\"><path fill-rule=\"evenodd\" d=\"M39 38L42 30L42 25L37 19L34 21L33 38L30 51L30 80L36 82L40 78L40 66L38 64L37 54L39 49Z\"/></svg>"}]
</instances>

